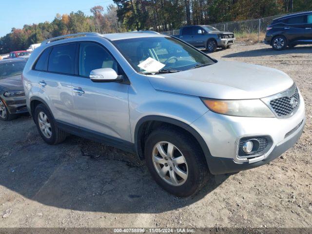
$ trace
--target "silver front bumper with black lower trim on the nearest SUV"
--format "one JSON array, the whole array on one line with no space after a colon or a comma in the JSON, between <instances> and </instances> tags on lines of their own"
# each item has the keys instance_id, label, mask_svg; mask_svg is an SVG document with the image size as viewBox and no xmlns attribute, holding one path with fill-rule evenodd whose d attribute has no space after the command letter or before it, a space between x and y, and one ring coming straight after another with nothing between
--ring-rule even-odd
<instances>
[{"instance_id":1,"label":"silver front bumper with black lower trim on the nearest SUV","mask_svg":"<svg viewBox=\"0 0 312 234\"><path fill-rule=\"evenodd\" d=\"M300 122L302 124L292 131ZM191 126L203 137L209 148L205 156L210 172L225 174L258 167L280 156L299 139L304 124L305 107L300 95L300 106L289 118L233 117L208 111ZM269 136L272 139L270 149L252 159L238 157L240 138L257 136Z\"/></svg>"}]
</instances>

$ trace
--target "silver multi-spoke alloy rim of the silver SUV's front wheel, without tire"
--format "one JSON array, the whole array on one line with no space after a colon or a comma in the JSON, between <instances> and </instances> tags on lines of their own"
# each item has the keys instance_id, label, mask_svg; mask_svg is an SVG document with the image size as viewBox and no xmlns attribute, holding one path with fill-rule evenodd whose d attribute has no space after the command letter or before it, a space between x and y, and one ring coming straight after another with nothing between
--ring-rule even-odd
<instances>
[{"instance_id":1,"label":"silver multi-spoke alloy rim of the silver SUV's front wheel, without tire","mask_svg":"<svg viewBox=\"0 0 312 234\"><path fill-rule=\"evenodd\" d=\"M188 178L188 166L181 151L167 141L158 142L153 149L153 164L157 174L168 184L180 186Z\"/></svg>"}]
</instances>

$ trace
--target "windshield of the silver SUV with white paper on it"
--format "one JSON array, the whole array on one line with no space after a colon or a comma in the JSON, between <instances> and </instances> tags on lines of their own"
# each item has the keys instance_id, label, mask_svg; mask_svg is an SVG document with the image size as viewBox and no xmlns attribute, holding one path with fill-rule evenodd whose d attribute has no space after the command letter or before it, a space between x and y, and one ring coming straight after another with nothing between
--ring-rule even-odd
<instances>
[{"instance_id":1,"label":"windshield of the silver SUV with white paper on it","mask_svg":"<svg viewBox=\"0 0 312 234\"><path fill-rule=\"evenodd\" d=\"M189 45L169 37L115 40L117 49L140 73L185 71L214 60Z\"/></svg>"}]
</instances>

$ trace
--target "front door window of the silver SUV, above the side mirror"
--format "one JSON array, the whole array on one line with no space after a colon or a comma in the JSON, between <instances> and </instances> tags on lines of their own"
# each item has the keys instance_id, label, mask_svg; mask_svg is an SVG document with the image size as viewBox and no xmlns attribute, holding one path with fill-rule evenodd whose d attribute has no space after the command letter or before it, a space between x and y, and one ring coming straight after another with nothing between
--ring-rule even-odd
<instances>
[{"instance_id":1,"label":"front door window of the silver SUV, above the side mirror","mask_svg":"<svg viewBox=\"0 0 312 234\"><path fill-rule=\"evenodd\" d=\"M79 75L89 77L90 72L99 68L112 68L118 73L117 61L100 45L82 42L79 48Z\"/></svg>"}]
</instances>

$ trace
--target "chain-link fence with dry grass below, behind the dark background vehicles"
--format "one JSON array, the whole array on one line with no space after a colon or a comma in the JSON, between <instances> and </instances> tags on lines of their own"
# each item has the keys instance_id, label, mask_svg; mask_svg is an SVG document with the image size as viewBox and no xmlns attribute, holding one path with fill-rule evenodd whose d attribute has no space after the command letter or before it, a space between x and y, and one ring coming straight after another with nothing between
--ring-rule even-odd
<instances>
[{"instance_id":1,"label":"chain-link fence with dry grass below, behind the dark background vehicles","mask_svg":"<svg viewBox=\"0 0 312 234\"><path fill-rule=\"evenodd\" d=\"M300 13L300 12L297 12ZM293 13L294 14L294 13ZM252 40L254 42L260 42L264 39L268 25L276 18L285 16L275 15L255 20L242 20L242 21L231 21L210 24L220 31L234 32L236 39L238 40ZM168 35L179 34L179 29L162 32Z\"/></svg>"}]
</instances>

